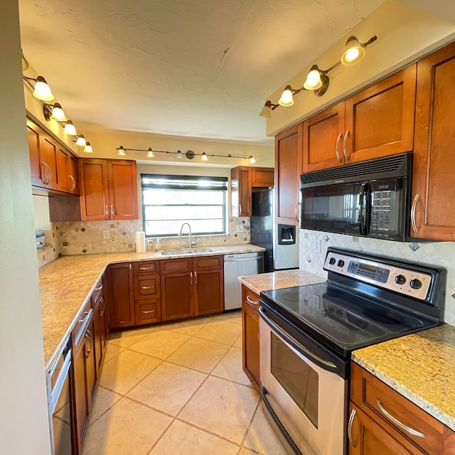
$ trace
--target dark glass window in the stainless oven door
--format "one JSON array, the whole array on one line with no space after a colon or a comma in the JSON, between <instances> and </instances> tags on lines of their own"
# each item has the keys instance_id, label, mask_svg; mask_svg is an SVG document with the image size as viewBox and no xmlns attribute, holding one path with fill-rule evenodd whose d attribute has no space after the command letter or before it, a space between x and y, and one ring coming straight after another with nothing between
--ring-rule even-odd
<instances>
[{"instance_id":1,"label":"dark glass window in the stainless oven door","mask_svg":"<svg viewBox=\"0 0 455 455\"><path fill-rule=\"evenodd\" d=\"M274 333L271 333L271 370L294 403L318 428L319 376Z\"/></svg>"}]
</instances>

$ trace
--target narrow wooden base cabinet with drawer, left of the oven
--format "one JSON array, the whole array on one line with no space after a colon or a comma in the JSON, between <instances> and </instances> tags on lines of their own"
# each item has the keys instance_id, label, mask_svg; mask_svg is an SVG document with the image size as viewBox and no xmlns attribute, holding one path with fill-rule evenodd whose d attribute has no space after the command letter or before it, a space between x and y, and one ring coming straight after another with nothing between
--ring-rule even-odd
<instances>
[{"instance_id":1,"label":"narrow wooden base cabinet with drawer, left of the oven","mask_svg":"<svg viewBox=\"0 0 455 455\"><path fill-rule=\"evenodd\" d=\"M259 296L243 284L242 366L252 384L259 389Z\"/></svg>"}]
</instances>

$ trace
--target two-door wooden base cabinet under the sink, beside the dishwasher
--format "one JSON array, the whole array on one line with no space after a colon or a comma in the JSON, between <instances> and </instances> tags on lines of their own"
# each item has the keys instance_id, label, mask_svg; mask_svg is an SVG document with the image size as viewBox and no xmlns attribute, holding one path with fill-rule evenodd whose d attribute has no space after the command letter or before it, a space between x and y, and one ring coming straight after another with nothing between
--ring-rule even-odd
<instances>
[{"instance_id":1,"label":"two-door wooden base cabinet under the sink, beside the dishwasher","mask_svg":"<svg viewBox=\"0 0 455 455\"><path fill-rule=\"evenodd\" d=\"M164 321L223 311L223 257L161 261L161 314Z\"/></svg>"}]
</instances>

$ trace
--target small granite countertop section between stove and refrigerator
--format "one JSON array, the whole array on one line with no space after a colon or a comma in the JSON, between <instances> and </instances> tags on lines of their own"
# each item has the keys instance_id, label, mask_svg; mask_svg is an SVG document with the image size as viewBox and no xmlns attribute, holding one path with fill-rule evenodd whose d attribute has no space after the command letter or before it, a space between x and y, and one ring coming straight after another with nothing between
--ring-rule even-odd
<instances>
[{"instance_id":1,"label":"small granite countertop section between stove and refrigerator","mask_svg":"<svg viewBox=\"0 0 455 455\"><path fill-rule=\"evenodd\" d=\"M326 281L326 278L319 277L319 275L306 272L305 270L296 269L239 277L239 281L256 294L260 294L262 291L269 291L271 289L323 283Z\"/></svg>"}]
</instances>

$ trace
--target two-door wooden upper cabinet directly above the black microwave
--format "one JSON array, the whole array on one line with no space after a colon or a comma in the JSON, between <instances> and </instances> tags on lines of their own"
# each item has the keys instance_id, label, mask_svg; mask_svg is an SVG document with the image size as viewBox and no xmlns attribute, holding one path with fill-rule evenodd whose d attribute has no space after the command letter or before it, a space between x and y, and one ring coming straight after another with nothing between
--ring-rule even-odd
<instances>
[{"instance_id":1,"label":"two-door wooden upper cabinet directly above the black microwave","mask_svg":"<svg viewBox=\"0 0 455 455\"><path fill-rule=\"evenodd\" d=\"M411 151L416 65L304 121L303 171Z\"/></svg>"}]
</instances>

